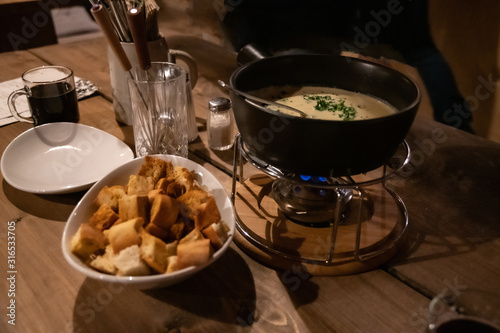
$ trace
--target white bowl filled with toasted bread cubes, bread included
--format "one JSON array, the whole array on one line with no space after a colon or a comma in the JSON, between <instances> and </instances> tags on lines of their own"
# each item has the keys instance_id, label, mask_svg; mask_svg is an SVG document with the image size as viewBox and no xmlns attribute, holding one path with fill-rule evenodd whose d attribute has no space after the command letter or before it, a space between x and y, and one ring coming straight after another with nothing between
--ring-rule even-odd
<instances>
[{"instance_id":1,"label":"white bowl filled with toasted bread cubes, bread included","mask_svg":"<svg viewBox=\"0 0 500 333\"><path fill-rule=\"evenodd\" d=\"M220 258L235 227L220 182L183 157L136 158L83 196L64 229L68 263L89 278L152 289Z\"/></svg>"}]
</instances>

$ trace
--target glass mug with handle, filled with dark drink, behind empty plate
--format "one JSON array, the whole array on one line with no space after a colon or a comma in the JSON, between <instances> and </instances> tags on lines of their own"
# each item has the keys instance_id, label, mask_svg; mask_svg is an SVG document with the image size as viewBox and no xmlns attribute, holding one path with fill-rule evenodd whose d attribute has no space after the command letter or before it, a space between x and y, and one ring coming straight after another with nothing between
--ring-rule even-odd
<instances>
[{"instance_id":1,"label":"glass mug with handle, filled with dark drink, behind empty plate","mask_svg":"<svg viewBox=\"0 0 500 333\"><path fill-rule=\"evenodd\" d=\"M19 121L35 126L54 123L77 123L80 119L73 71L63 66L43 66L30 69L22 75L24 88L12 92L7 103L10 112ZM31 117L21 116L16 99L26 95Z\"/></svg>"}]
</instances>

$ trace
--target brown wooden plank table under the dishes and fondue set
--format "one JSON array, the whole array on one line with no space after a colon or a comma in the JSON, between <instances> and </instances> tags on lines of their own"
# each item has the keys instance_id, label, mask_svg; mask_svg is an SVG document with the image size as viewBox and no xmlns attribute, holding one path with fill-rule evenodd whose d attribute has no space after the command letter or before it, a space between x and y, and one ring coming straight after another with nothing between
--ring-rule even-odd
<instances>
[{"instance_id":1,"label":"brown wooden plank table under the dishes and fondue set","mask_svg":"<svg viewBox=\"0 0 500 333\"><path fill-rule=\"evenodd\" d=\"M171 47L199 65L194 89L200 138L189 157L229 192L232 154L207 146L207 102L226 95L216 84L235 54L193 36L167 34ZM71 67L100 94L80 102L81 123L133 144L114 119L102 38L0 54L2 81L29 68ZM30 128L0 128L0 151ZM34 195L2 182L1 332L422 332L430 299L446 289L500 291L500 145L417 117L407 142L410 170L391 181L407 205L404 247L382 267L347 276L305 276L267 267L232 244L213 266L178 285L137 291L86 279L61 251L65 221L84 193ZM6 280L7 221L15 224L15 295ZM15 300L15 326L6 309Z\"/></svg>"}]
</instances>

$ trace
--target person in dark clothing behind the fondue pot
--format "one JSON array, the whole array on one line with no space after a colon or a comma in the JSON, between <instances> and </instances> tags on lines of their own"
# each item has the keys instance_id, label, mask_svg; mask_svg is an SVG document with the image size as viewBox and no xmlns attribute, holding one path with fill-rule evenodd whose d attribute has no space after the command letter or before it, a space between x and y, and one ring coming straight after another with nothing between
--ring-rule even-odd
<instances>
[{"instance_id":1,"label":"person in dark clothing behind the fondue pot","mask_svg":"<svg viewBox=\"0 0 500 333\"><path fill-rule=\"evenodd\" d=\"M222 26L236 51L257 43L271 53L388 55L418 70L436 121L473 133L470 107L432 39L427 0L225 0L225 5Z\"/></svg>"}]
</instances>

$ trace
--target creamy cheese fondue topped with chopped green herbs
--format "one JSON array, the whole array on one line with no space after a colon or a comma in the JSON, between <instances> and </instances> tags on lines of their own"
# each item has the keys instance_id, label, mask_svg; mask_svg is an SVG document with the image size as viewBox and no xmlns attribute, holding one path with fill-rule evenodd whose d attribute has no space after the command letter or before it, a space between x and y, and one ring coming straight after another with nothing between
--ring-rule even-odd
<instances>
[{"instance_id":1,"label":"creamy cheese fondue topped with chopped green herbs","mask_svg":"<svg viewBox=\"0 0 500 333\"><path fill-rule=\"evenodd\" d=\"M324 120L365 120L389 116L397 112L387 102L361 93L328 87L268 87L253 92L255 96L291 106L307 114L307 118ZM292 116L297 113L269 106Z\"/></svg>"}]
</instances>

